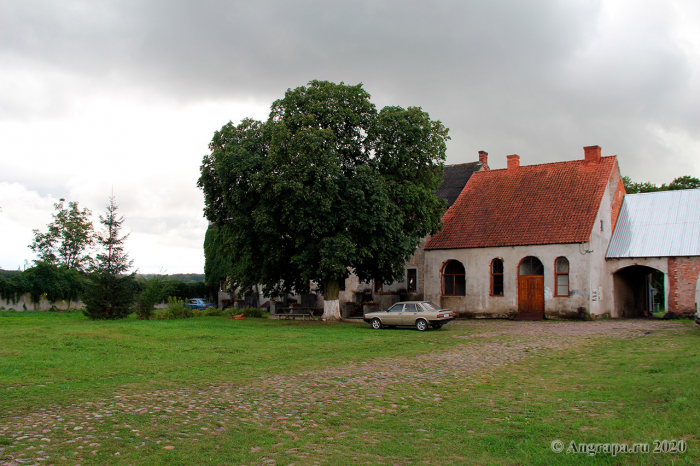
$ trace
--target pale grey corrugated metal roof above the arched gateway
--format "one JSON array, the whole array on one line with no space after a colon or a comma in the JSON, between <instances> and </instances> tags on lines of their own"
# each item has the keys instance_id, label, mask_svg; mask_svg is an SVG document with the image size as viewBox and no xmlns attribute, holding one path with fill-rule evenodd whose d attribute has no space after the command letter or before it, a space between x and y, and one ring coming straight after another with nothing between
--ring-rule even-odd
<instances>
[{"instance_id":1,"label":"pale grey corrugated metal roof above the arched gateway","mask_svg":"<svg viewBox=\"0 0 700 466\"><path fill-rule=\"evenodd\" d=\"M628 194L606 257L700 256L700 189Z\"/></svg>"}]
</instances>

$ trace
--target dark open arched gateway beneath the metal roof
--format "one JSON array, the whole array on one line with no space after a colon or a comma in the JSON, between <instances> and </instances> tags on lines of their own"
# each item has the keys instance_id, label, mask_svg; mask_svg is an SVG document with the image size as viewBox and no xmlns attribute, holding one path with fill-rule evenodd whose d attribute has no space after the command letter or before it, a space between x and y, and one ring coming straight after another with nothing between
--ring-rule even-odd
<instances>
[{"instance_id":1,"label":"dark open arched gateway beneath the metal roof","mask_svg":"<svg viewBox=\"0 0 700 466\"><path fill-rule=\"evenodd\" d=\"M663 311L665 275L644 265L625 267L613 274L615 317L648 317ZM656 304L656 306L655 306Z\"/></svg>"}]
</instances>

